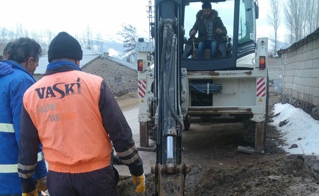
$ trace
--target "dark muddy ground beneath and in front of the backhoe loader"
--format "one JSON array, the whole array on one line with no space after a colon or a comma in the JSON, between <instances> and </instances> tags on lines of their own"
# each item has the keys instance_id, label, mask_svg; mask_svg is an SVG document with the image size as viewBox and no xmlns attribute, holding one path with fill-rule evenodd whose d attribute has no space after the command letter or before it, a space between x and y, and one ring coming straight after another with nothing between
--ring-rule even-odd
<instances>
[{"instance_id":1,"label":"dark muddy ground beneath and in front of the backhoe loader","mask_svg":"<svg viewBox=\"0 0 319 196\"><path fill-rule=\"evenodd\" d=\"M270 87L270 119L275 96ZM137 107L137 94L117 98L122 110ZM243 142L242 123L193 123L183 133L183 162L191 166L186 176L186 196L318 196L319 162L316 157L287 155L275 127L268 126L265 153L236 151ZM154 175L146 176L145 196L154 192ZM121 176L121 196L135 196L131 178Z\"/></svg>"}]
</instances>

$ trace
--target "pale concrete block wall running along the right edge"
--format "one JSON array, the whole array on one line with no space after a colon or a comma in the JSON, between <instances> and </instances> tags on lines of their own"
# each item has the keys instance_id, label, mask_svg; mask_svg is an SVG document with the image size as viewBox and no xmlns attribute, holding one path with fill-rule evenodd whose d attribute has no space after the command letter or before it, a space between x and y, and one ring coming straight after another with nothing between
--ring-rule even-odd
<instances>
[{"instance_id":1,"label":"pale concrete block wall running along the right edge","mask_svg":"<svg viewBox=\"0 0 319 196\"><path fill-rule=\"evenodd\" d=\"M319 38L282 54L282 93L319 106Z\"/></svg>"}]
</instances>

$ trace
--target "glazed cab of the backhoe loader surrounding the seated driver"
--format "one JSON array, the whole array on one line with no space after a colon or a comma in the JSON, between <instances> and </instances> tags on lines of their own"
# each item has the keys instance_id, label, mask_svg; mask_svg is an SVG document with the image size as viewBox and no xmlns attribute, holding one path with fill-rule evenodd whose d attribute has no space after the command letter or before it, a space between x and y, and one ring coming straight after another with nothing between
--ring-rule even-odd
<instances>
[{"instance_id":1,"label":"glazed cab of the backhoe loader surrounding the seated driver","mask_svg":"<svg viewBox=\"0 0 319 196\"><path fill-rule=\"evenodd\" d=\"M185 0L183 8L182 28L187 42L183 46L182 67L188 71L238 70L236 60L255 52L256 25L258 18L257 0L207 0L212 9L218 12L227 36L219 40L219 48L215 58L209 58L209 49L204 51L204 59L198 58L197 35L190 36L189 31L196 21L196 13L201 11L205 0ZM195 13L195 14L194 14ZM204 66L205 65L205 66Z\"/></svg>"}]
</instances>

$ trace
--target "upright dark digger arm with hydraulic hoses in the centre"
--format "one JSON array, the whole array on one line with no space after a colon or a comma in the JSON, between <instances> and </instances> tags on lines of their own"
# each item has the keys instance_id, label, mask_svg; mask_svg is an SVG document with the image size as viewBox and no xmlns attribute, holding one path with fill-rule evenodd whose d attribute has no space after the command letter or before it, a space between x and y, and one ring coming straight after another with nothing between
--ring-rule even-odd
<instances>
[{"instance_id":1,"label":"upright dark digger arm with hydraulic hoses in the centre","mask_svg":"<svg viewBox=\"0 0 319 196\"><path fill-rule=\"evenodd\" d=\"M183 196L189 166L182 163L182 0L155 0L155 196Z\"/></svg>"}]
</instances>

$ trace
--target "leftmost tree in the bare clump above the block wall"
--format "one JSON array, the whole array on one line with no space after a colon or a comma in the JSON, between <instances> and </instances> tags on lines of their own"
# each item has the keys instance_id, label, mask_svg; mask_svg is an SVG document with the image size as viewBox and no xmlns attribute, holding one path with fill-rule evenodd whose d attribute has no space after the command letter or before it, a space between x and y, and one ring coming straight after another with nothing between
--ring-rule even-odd
<instances>
[{"instance_id":1,"label":"leftmost tree in the bare clump above the block wall","mask_svg":"<svg viewBox=\"0 0 319 196\"><path fill-rule=\"evenodd\" d=\"M287 0L284 10L289 42L294 43L303 38L307 32L306 2L305 0Z\"/></svg>"}]
</instances>

